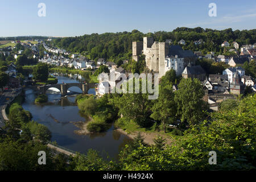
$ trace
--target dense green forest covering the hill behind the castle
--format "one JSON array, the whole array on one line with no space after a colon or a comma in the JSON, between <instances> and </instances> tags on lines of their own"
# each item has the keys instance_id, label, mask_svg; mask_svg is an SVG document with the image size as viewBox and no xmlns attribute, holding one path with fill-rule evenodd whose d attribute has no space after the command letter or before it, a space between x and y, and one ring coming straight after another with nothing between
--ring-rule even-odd
<instances>
[{"instance_id":1,"label":"dense green forest covering the hill behind the castle","mask_svg":"<svg viewBox=\"0 0 256 182\"><path fill-rule=\"evenodd\" d=\"M179 40L184 39L186 44L183 46L183 49L191 49L192 51L200 50L203 53L209 51L222 53L224 50L221 48L221 43L225 40L230 44L233 41L236 41L240 45L254 44L256 42L256 29L233 31L232 28L228 28L219 31L209 28L204 30L201 27L178 27L171 32L158 31L148 34L133 30L131 32L125 31L57 38L52 44L70 52L77 52L89 56L93 60L104 57L105 59L112 59L117 62L119 59L130 59L132 55L132 42L143 41L144 36L154 37L154 40L159 42L171 39L173 44L177 44ZM193 42L199 39L203 39L204 43L196 46Z\"/></svg>"}]
</instances>

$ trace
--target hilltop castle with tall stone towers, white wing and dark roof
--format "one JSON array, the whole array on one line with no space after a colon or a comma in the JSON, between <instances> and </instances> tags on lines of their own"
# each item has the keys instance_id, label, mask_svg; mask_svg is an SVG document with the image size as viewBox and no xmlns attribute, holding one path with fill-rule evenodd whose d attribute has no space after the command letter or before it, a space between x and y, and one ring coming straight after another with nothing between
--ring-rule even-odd
<instances>
[{"instance_id":1,"label":"hilltop castle with tall stone towers, white wing and dark roof","mask_svg":"<svg viewBox=\"0 0 256 182\"><path fill-rule=\"evenodd\" d=\"M180 46L170 46L167 42L154 42L154 38L144 37L143 42L133 42L133 59L138 61L145 55L148 69L159 73L159 77L174 69L180 76L188 63L195 64L196 55L185 51Z\"/></svg>"}]
</instances>

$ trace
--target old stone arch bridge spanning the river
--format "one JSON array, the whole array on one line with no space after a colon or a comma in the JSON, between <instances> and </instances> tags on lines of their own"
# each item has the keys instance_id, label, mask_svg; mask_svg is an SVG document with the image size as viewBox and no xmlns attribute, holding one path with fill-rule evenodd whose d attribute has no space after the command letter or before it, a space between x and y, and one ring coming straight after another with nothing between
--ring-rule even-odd
<instances>
[{"instance_id":1,"label":"old stone arch bridge spanning the river","mask_svg":"<svg viewBox=\"0 0 256 182\"><path fill-rule=\"evenodd\" d=\"M66 96L68 93L68 89L71 88L72 86L77 86L82 90L82 93L88 93L88 90L90 88L95 88L97 84L82 84L82 83L68 83L68 84L54 84L54 85L43 85L43 86L38 86L38 90L40 94L46 94L46 90L49 88L56 88L59 89L61 92L61 96Z\"/></svg>"}]
</instances>

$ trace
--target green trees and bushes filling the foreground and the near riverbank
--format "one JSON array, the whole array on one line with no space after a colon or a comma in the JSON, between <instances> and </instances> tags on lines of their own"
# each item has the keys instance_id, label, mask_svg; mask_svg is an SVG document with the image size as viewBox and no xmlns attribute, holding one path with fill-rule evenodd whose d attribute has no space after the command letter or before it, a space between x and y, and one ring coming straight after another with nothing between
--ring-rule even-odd
<instances>
[{"instance_id":1,"label":"green trees and bushes filling the foreground and the near riverbank","mask_svg":"<svg viewBox=\"0 0 256 182\"><path fill-rule=\"evenodd\" d=\"M170 74L171 75L171 74ZM168 76L168 74L166 75ZM256 95L242 96L236 101L224 101L220 111L207 113L207 110L195 96L201 94L200 84L196 79L182 79L178 85L180 92L170 93L171 80L163 79L160 84L159 100L148 101L143 94L109 94L94 100L94 96L77 97L78 105L93 119L105 121L118 119L115 125L127 127L135 123L139 128L164 130L168 123L180 123L177 129L182 136L171 144L166 144L163 138L157 137L155 144L144 143L141 136L127 144L119 153L118 160L105 160L99 152L89 150L86 155L77 154L73 158L63 155L53 155L46 147L46 141L51 137L43 125L31 121L31 114L14 102L9 111L10 122L7 122L5 133L0 135L0 169L17 170L249 170L255 169L255 132L256 132ZM166 85L166 86L164 86ZM193 86L195 85L195 86ZM183 87L187 87L186 91ZM189 87L191 86L191 87ZM163 87L163 88L161 88ZM191 90L189 90L191 88ZM161 91L162 90L162 91ZM166 92L170 90L170 92ZM168 101L163 96L167 94ZM193 96L192 96L193 95ZM184 98L187 98L184 100ZM161 102L162 103L161 103ZM164 111L176 103L175 115L167 115L162 119ZM186 102L185 102L186 101ZM93 104L89 104L92 102ZM160 102L160 103L159 103ZM131 107L132 105L132 107ZM189 110L196 110L191 115ZM185 109L185 110L183 110ZM168 111L168 110L166 110ZM104 114L101 114L104 113ZM112 113L112 114L107 114ZM155 113L155 114L153 114ZM121 117L122 115L122 117ZM159 119L155 121L155 115ZM145 119L146 118L146 119ZM101 121L101 122L102 122ZM142 122L143 121L143 122ZM96 125L96 128L101 126ZM19 134L19 130L22 133ZM93 129L94 130L94 129ZM98 130L98 129L96 129ZM100 130L98 130L100 131ZM2 132L2 131L1 131ZM166 129L166 135L171 131ZM35 137L32 137L35 136ZM32 139L34 138L34 139ZM42 142L43 141L43 142ZM47 165L38 165L38 151L47 153ZM209 151L216 151L217 165L208 164ZM26 151L26 152L24 152ZM11 154L13 155L10 155ZM18 155L17 155L18 154ZM69 162L69 165L67 164Z\"/></svg>"}]
</instances>

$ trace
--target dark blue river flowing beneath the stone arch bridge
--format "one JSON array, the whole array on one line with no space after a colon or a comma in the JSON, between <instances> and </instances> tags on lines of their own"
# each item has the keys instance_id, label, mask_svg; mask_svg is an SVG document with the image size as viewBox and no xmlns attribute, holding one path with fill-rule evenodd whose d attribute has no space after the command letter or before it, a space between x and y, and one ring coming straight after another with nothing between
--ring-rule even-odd
<instances>
[{"instance_id":1,"label":"dark blue river flowing beneath the stone arch bridge","mask_svg":"<svg viewBox=\"0 0 256 182\"><path fill-rule=\"evenodd\" d=\"M77 75L53 74L58 78L58 84L83 82L84 78ZM77 87L69 89L68 94L82 93ZM90 94L95 94L94 89L90 89ZM86 117L80 114L75 104L75 96L61 97L60 91L54 88L48 89L46 94L48 102L46 104L34 104L36 93L33 90L26 90L26 100L22 104L25 110L30 111L32 119L48 127L52 133L51 141L73 151L86 154L89 148L100 151L100 154L106 158L117 159L121 148L130 141L130 139L118 131L114 126L105 133L94 135L79 135L75 130L80 130L70 122L86 122ZM58 121L58 122L56 122Z\"/></svg>"}]
</instances>

